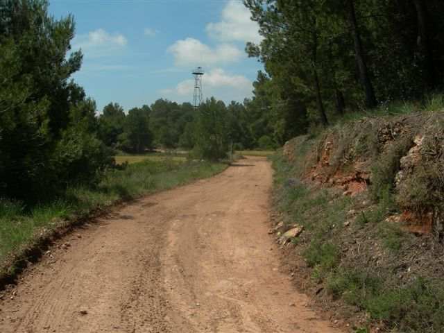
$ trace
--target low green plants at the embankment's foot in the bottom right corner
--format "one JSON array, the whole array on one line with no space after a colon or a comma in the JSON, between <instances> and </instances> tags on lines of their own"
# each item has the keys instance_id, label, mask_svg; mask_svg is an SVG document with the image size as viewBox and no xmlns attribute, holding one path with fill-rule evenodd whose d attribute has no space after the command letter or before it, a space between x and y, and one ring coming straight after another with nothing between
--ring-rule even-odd
<instances>
[{"instance_id":1,"label":"low green plants at the embankment's foot in the bottom right corner","mask_svg":"<svg viewBox=\"0 0 444 333\"><path fill-rule=\"evenodd\" d=\"M380 278L343 268L331 275L327 288L336 298L365 309L370 318L384 321L396 332L440 332L444 324L444 285L418 278L384 289Z\"/></svg>"}]
</instances>

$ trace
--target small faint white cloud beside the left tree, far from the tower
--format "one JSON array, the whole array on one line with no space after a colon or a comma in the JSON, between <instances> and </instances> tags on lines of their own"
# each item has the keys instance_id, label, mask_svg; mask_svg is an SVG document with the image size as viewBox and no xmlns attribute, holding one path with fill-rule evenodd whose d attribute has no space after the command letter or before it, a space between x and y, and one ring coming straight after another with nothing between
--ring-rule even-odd
<instances>
[{"instance_id":1,"label":"small faint white cloud beside the left tree, far from the tower","mask_svg":"<svg viewBox=\"0 0 444 333\"><path fill-rule=\"evenodd\" d=\"M82 49L86 57L99 58L124 48L126 44L128 40L121 33L111 34L100 28L84 35L76 35L73 49Z\"/></svg>"}]
</instances>

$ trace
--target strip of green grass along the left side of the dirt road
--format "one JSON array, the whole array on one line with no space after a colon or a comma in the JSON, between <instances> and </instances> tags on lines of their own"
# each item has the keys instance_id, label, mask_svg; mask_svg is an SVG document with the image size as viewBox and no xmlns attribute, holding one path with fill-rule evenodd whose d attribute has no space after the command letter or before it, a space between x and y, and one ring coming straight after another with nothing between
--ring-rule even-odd
<instances>
[{"instance_id":1,"label":"strip of green grass along the left side of the dirt road","mask_svg":"<svg viewBox=\"0 0 444 333\"><path fill-rule=\"evenodd\" d=\"M129 200L207 178L226 167L221 163L150 159L130 164L123 170L108 171L96 187L70 187L65 195L51 203L25 207L19 202L0 200L0 268L3 267L4 272L5 264L10 263L13 255L33 244L41 232L66 223L67 219L86 216L117 200Z\"/></svg>"}]
</instances>

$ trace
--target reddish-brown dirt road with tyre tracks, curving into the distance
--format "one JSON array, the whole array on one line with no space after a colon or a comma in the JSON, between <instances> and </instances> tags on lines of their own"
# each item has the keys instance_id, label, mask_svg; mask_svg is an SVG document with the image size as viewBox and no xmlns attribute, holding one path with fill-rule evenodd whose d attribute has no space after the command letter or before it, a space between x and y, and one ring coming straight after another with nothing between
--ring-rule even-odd
<instances>
[{"instance_id":1,"label":"reddish-brown dirt road with tyre tracks, curving into the distance","mask_svg":"<svg viewBox=\"0 0 444 333\"><path fill-rule=\"evenodd\" d=\"M253 157L86 225L0 301L0 332L339 332L279 270L271 182Z\"/></svg>"}]
</instances>

